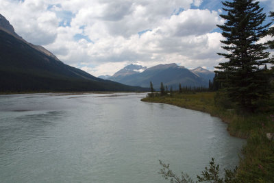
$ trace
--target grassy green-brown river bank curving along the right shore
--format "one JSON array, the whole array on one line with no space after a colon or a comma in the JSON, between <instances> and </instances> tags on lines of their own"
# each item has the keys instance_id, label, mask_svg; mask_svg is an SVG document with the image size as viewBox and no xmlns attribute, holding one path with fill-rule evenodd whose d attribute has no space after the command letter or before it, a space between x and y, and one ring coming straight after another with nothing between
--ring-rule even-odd
<instances>
[{"instance_id":1,"label":"grassy green-brown river bank curving along the right shore","mask_svg":"<svg viewBox=\"0 0 274 183\"><path fill-rule=\"evenodd\" d=\"M142 101L171 105L208 112L221 118L232 136L247 138L242 148L237 177L239 182L274 182L274 141L266 134L274 132L273 100L256 113L243 113L233 108L221 108L214 100L215 93L175 94L146 97ZM264 104L266 105L266 104ZM187 170L180 170L187 171Z\"/></svg>"}]
</instances>

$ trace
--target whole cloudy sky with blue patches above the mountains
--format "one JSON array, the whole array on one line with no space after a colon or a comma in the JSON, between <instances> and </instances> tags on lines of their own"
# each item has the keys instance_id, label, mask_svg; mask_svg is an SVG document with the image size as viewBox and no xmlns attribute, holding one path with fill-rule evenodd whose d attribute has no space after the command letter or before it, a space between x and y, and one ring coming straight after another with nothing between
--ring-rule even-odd
<instances>
[{"instance_id":1,"label":"whole cloudy sky with blue patches above the mountains","mask_svg":"<svg viewBox=\"0 0 274 183\"><path fill-rule=\"evenodd\" d=\"M273 0L260 0L265 12ZM88 73L127 64L213 69L223 58L220 0L0 0L0 13L28 42Z\"/></svg>"}]
</instances>

